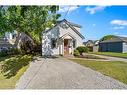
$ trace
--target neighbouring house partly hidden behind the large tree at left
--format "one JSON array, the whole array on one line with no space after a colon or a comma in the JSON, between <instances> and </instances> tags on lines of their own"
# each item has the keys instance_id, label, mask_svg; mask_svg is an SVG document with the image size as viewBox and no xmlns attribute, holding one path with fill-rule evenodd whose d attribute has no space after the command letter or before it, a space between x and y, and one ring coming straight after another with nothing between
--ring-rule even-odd
<instances>
[{"instance_id":1,"label":"neighbouring house partly hidden behind the large tree at left","mask_svg":"<svg viewBox=\"0 0 127 95\"><path fill-rule=\"evenodd\" d=\"M25 42L29 41L29 44L33 40L26 35L25 33L20 33L18 37L18 32L6 32L3 36L0 37L0 51L2 50L9 50L11 48L22 48L21 46L25 44ZM30 47L32 48L32 47Z\"/></svg>"}]
</instances>

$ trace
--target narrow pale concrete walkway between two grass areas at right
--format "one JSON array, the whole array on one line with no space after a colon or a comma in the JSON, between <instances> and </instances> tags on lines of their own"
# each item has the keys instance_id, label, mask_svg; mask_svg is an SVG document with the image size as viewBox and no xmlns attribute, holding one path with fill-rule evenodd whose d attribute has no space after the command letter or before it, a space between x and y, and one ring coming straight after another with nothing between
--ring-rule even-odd
<instances>
[{"instance_id":1,"label":"narrow pale concrete walkway between two grass areas at right","mask_svg":"<svg viewBox=\"0 0 127 95\"><path fill-rule=\"evenodd\" d=\"M100 58L105 58L105 59L110 60L110 61L123 61L123 62L127 62L126 58L118 58L118 57L111 57L111 56L97 55L97 54L89 54L89 55L98 56Z\"/></svg>"}]
</instances>

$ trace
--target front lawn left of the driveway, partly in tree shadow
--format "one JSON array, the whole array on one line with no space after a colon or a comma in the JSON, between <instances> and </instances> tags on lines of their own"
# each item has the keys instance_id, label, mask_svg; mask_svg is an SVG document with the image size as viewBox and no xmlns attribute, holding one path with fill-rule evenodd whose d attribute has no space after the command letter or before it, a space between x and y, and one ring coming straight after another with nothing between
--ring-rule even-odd
<instances>
[{"instance_id":1,"label":"front lawn left of the driveway, partly in tree shadow","mask_svg":"<svg viewBox=\"0 0 127 95\"><path fill-rule=\"evenodd\" d=\"M29 67L30 55L0 58L0 89L13 89L21 75Z\"/></svg>"}]
</instances>

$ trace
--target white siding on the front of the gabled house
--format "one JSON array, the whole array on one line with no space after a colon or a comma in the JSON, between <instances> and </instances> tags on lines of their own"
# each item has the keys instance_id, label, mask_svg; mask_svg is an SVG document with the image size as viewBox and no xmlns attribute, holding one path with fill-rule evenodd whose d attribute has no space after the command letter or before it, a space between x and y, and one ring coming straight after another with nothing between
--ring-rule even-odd
<instances>
[{"instance_id":1,"label":"white siding on the front of the gabled house","mask_svg":"<svg viewBox=\"0 0 127 95\"><path fill-rule=\"evenodd\" d=\"M80 30L78 27L76 29L78 31ZM83 45L83 39L74 30L72 30L69 26L67 28L62 28L60 25L58 25L53 29L51 29L50 31L42 33L42 55L64 54L64 44L63 41L62 40L60 41L59 38L68 33L71 34L76 39L76 47ZM51 38L57 39L56 48L52 49Z\"/></svg>"}]
</instances>

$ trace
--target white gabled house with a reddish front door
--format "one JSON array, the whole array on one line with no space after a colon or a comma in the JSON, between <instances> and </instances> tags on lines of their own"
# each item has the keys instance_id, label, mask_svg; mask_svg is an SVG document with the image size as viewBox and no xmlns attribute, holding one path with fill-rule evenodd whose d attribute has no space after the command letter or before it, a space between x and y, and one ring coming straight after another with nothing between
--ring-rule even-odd
<instances>
[{"instance_id":1,"label":"white gabled house with a reddish front door","mask_svg":"<svg viewBox=\"0 0 127 95\"><path fill-rule=\"evenodd\" d=\"M83 45L84 36L80 33L80 28L80 25L64 19L42 32L42 55L73 54L76 47Z\"/></svg>"}]
</instances>

